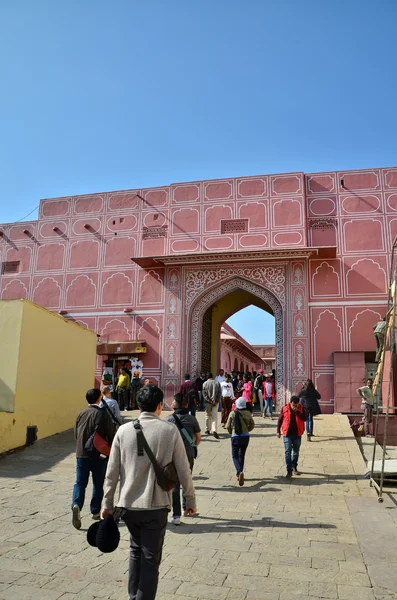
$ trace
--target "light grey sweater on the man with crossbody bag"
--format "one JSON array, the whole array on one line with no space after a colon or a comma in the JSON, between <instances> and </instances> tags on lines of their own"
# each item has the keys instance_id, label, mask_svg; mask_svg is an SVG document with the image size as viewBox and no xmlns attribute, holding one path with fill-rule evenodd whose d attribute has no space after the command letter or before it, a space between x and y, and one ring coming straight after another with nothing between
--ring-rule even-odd
<instances>
[{"instance_id":1,"label":"light grey sweater on the man with crossbody bag","mask_svg":"<svg viewBox=\"0 0 397 600\"><path fill-rule=\"evenodd\" d=\"M142 412L139 421L159 465L165 467L171 461L174 463L186 495L186 508L196 508L189 461L177 427L148 412ZM119 479L119 499L114 502ZM133 423L122 425L115 435L104 492L103 508L113 509L116 505L129 510L171 510L171 493L162 490L158 485L146 452L143 456L138 456L137 435Z\"/></svg>"}]
</instances>

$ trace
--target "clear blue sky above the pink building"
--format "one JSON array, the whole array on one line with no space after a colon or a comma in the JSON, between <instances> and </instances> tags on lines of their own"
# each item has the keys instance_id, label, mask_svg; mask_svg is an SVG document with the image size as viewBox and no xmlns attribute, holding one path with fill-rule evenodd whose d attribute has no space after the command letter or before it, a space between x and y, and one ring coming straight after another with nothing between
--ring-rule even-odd
<instances>
[{"instance_id":1,"label":"clear blue sky above the pink building","mask_svg":"<svg viewBox=\"0 0 397 600\"><path fill-rule=\"evenodd\" d=\"M396 23L396 0L2 0L0 222L45 197L396 164Z\"/></svg>"}]
</instances>

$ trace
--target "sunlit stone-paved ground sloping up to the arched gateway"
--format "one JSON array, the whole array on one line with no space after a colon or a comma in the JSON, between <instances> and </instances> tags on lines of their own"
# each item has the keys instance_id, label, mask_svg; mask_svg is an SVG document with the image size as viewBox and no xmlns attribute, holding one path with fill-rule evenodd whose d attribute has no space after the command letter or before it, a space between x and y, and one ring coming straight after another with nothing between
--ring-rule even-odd
<instances>
[{"instance_id":1,"label":"sunlit stone-paved ground sloping up to the arched gateway","mask_svg":"<svg viewBox=\"0 0 397 600\"><path fill-rule=\"evenodd\" d=\"M194 471L200 516L169 525L157 598L397 598L397 583L385 584L384 572L383 580L375 572L371 580L374 563L363 557L369 532L376 537L377 521L384 527L382 515L393 506L379 505L362 479L365 468L347 419L316 419L313 442L302 444L303 474L292 480L284 478L275 421L256 422L243 488L234 481L228 436L204 436ZM102 555L88 546L85 530L71 526L70 432L1 460L0 482L0 599L127 599L126 528L119 549ZM356 531L368 511L372 529L360 547ZM87 527L87 509L83 517ZM397 539L391 529L389 537ZM377 553L381 574L382 560Z\"/></svg>"}]
</instances>

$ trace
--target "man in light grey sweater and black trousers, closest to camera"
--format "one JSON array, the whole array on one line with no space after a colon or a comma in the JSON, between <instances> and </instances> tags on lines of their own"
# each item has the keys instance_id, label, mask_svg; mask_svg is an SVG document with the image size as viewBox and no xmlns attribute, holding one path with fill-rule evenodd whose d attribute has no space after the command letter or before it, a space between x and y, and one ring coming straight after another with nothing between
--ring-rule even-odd
<instances>
[{"instance_id":1,"label":"man in light grey sweater and black trousers, closest to camera","mask_svg":"<svg viewBox=\"0 0 397 600\"><path fill-rule=\"evenodd\" d=\"M196 499L189 461L175 425L162 421L163 392L155 385L137 394L139 422L158 464L174 463L186 496L186 514L196 514ZM102 518L115 508L114 496L120 480L118 508L131 534L128 594L130 600L154 600L164 543L171 493L157 483L146 452L138 456L137 432L133 423L122 425L113 440L105 479Z\"/></svg>"}]
</instances>

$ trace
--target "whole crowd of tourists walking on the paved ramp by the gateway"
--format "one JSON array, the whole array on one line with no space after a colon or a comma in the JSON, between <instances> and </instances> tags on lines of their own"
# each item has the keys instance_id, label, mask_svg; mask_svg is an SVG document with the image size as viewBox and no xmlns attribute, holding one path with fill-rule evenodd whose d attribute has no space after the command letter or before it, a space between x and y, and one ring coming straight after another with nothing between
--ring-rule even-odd
<instances>
[{"instance_id":1,"label":"whole crowd of tourists walking on the paved ramp by the gateway","mask_svg":"<svg viewBox=\"0 0 397 600\"><path fill-rule=\"evenodd\" d=\"M125 522L130 532L130 600L151 600L156 596L168 512L172 510L172 524L176 526L180 525L182 516L198 515L192 471L201 442L195 411L202 399L206 409L206 433L212 432L217 439L218 406L223 403L222 421L231 436L236 480L240 486L245 483L245 455L250 432L255 428L253 388L257 390L259 403L260 392L265 399L272 392L273 402L274 381L270 375L261 372L256 374L254 382L252 376L243 376L244 383L238 391L233 379L223 373L216 378L208 373L200 397L186 374L181 391L175 394L173 412L165 420L160 418L162 390L156 385L144 385L137 394L139 420L122 427L119 405L111 398L109 388L92 389L86 394L88 406L79 413L75 425L76 483L72 494L72 524L76 529L81 528L80 513L91 473L90 511L96 524L89 528L87 539L102 552L112 551L119 539L117 522L120 519ZM266 388L266 384L271 384L271 389L270 386ZM313 416L321 412L319 398L313 383L307 380L299 396L292 396L281 409L276 435L283 435L287 478L300 474L301 438L305 422L308 440L313 435ZM261 411L265 411L266 405L260 406Z\"/></svg>"}]
</instances>

